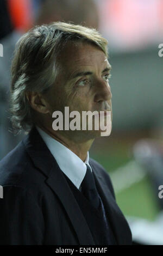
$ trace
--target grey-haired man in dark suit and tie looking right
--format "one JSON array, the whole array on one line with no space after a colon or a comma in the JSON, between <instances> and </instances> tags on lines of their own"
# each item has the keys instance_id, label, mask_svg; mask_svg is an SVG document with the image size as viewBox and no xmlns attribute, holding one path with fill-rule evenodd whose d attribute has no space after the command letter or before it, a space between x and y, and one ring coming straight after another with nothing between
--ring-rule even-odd
<instances>
[{"instance_id":1,"label":"grey-haired man in dark suit and tie looking right","mask_svg":"<svg viewBox=\"0 0 163 256\"><path fill-rule=\"evenodd\" d=\"M1 244L131 243L109 175L89 159L101 129L52 127L53 113L65 106L70 113L112 112L107 55L95 29L63 22L37 26L18 41L11 121L29 134L0 162Z\"/></svg>"}]
</instances>

